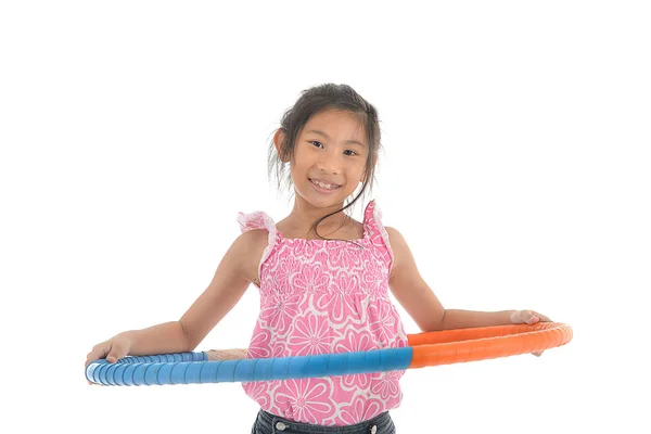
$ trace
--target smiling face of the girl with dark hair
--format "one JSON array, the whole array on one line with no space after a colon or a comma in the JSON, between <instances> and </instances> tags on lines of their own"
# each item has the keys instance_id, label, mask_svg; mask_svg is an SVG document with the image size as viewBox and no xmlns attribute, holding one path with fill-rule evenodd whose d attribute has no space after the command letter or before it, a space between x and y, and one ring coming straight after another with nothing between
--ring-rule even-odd
<instances>
[{"instance_id":1,"label":"smiling face of the girl with dark hair","mask_svg":"<svg viewBox=\"0 0 651 434\"><path fill-rule=\"evenodd\" d=\"M294 151L294 189L314 206L339 206L363 179L369 149L362 125L349 112L314 115L298 133Z\"/></svg>"}]
</instances>

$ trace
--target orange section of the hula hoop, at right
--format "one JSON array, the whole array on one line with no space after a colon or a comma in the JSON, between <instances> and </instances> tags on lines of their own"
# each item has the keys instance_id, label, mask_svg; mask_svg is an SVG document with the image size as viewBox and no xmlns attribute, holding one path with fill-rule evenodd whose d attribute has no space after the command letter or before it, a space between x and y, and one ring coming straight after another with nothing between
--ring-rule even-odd
<instances>
[{"instance_id":1,"label":"orange section of the hula hoop, at right","mask_svg":"<svg viewBox=\"0 0 651 434\"><path fill-rule=\"evenodd\" d=\"M411 369L541 352L570 342L572 328L538 322L424 332L407 339L413 348Z\"/></svg>"}]
</instances>

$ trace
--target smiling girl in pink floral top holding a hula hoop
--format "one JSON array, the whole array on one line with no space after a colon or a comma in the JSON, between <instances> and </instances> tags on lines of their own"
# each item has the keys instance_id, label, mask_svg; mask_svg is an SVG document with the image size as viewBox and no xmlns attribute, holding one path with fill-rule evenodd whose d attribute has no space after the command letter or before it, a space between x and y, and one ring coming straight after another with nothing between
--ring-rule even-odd
<instances>
[{"instance_id":1,"label":"smiling girl in pink floral top holding a hula hoop","mask_svg":"<svg viewBox=\"0 0 651 434\"><path fill-rule=\"evenodd\" d=\"M344 213L372 188L379 148L378 112L354 89L305 90L269 154L270 173L277 169L279 184L286 174L295 191L290 215L276 224L264 212L240 213L242 234L180 320L119 333L95 345L87 365L194 350L251 283L260 294L255 330L248 349L227 358L406 346L390 289L422 331L549 321L531 310L445 309L400 232L383 226L375 201L361 222ZM400 405L403 373L242 383L260 406L252 433L395 433L388 410Z\"/></svg>"}]
</instances>

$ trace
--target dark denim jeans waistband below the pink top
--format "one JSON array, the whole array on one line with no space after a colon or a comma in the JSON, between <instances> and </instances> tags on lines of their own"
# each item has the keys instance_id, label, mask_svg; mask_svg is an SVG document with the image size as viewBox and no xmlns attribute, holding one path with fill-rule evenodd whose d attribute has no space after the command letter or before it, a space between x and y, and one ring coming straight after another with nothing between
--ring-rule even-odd
<instances>
[{"instance_id":1,"label":"dark denim jeans waistband below the pink top","mask_svg":"<svg viewBox=\"0 0 651 434\"><path fill-rule=\"evenodd\" d=\"M388 411L354 425L324 426L294 422L261 409L251 430L251 434L395 434L395 432Z\"/></svg>"}]
</instances>

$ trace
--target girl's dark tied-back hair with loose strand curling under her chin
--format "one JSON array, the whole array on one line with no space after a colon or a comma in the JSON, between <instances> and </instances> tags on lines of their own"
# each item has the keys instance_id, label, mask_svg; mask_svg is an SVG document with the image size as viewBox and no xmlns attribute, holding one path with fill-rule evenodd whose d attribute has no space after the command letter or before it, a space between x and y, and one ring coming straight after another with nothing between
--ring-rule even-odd
<instances>
[{"instance_id":1,"label":"girl's dark tied-back hair with loose strand curling under her chin","mask_svg":"<svg viewBox=\"0 0 651 434\"><path fill-rule=\"evenodd\" d=\"M365 195L367 187L372 191L373 179L375 176L375 165L373 163L376 161L381 148L378 111L347 85L324 84L303 90L301 98L298 98L291 108L285 111L280 122L279 129L284 132L284 140L279 145L280 155L272 141L269 145L268 158L269 178L271 178L271 174L276 169L279 190L283 178L289 190L292 186L292 175L288 167L289 163L284 162L290 162L294 157L298 132L305 124L307 124L310 117L328 110L343 110L356 115L366 131L366 142L370 148L370 152L367 155L361 190L357 196L349 202L346 197L346 202L348 203L344 205L343 208L321 217L311 226L310 230L314 229L317 237L321 239L323 238L317 232L317 226L323 219L354 205L359 197Z\"/></svg>"}]
</instances>

